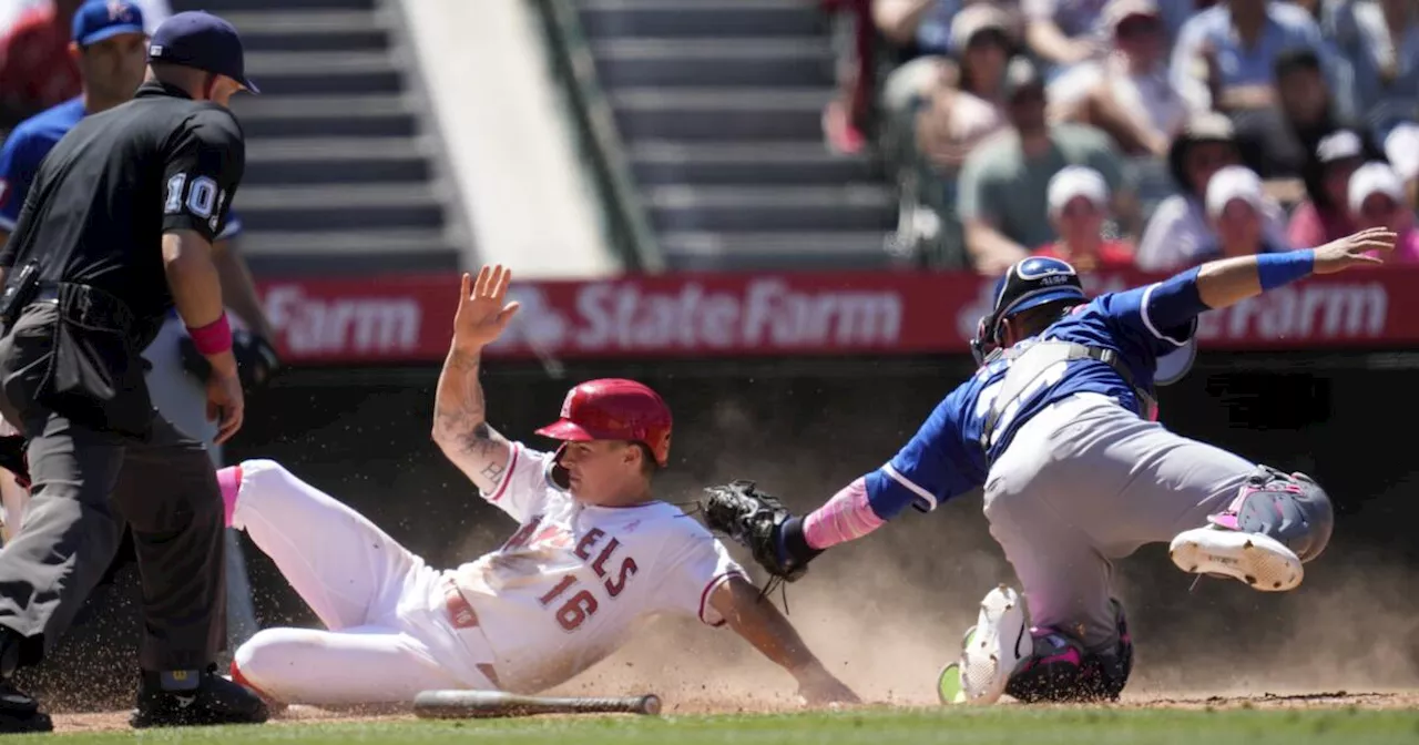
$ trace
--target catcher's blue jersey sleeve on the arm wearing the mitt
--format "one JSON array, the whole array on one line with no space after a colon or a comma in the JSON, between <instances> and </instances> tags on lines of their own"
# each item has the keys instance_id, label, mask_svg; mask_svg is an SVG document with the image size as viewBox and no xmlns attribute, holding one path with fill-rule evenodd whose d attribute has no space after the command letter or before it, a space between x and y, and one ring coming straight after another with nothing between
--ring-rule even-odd
<instances>
[{"instance_id":1,"label":"catcher's blue jersey sleeve on the arm wearing the mitt","mask_svg":"<svg viewBox=\"0 0 1419 745\"><path fill-rule=\"evenodd\" d=\"M911 505L929 512L985 482L985 454L966 437L971 390L966 383L951 392L895 457L867 474L867 501L877 517L891 519Z\"/></svg>"}]
</instances>

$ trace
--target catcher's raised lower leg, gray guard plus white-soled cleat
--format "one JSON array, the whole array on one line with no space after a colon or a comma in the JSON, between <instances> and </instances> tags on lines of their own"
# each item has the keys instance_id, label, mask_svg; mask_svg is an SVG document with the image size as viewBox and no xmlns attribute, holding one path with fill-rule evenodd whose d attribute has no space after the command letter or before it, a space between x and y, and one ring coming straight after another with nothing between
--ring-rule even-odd
<instances>
[{"instance_id":1,"label":"catcher's raised lower leg, gray guard plus white-soled cleat","mask_svg":"<svg viewBox=\"0 0 1419 745\"><path fill-rule=\"evenodd\" d=\"M1261 465L1227 509L1208 522L1172 539L1169 555L1178 568L1284 592L1301 583L1301 563L1325 549L1334 511L1308 475Z\"/></svg>"}]
</instances>

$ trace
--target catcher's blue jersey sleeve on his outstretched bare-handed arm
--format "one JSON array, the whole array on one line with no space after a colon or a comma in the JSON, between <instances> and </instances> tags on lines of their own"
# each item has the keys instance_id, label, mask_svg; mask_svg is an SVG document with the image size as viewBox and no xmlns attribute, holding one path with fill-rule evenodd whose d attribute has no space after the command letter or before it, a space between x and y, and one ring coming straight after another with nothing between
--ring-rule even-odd
<instances>
[{"instance_id":1,"label":"catcher's blue jersey sleeve on his outstretched bare-handed arm","mask_svg":"<svg viewBox=\"0 0 1419 745\"><path fill-rule=\"evenodd\" d=\"M1103 295L1094 304L1121 341L1155 356L1186 345L1198 329L1198 316L1208 311L1198 295L1196 268L1161 282Z\"/></svg>"}]
</instances>

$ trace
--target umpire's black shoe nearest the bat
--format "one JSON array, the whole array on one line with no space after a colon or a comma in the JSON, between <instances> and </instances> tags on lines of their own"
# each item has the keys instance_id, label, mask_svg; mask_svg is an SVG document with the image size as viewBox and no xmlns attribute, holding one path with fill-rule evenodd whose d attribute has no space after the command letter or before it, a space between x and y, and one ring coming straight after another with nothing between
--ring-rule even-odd
<instances>
[{"instance_id":1,"label":"umpire's black shoe nearest the bat","mask_svg":"<svg viewBox=\"0 0 1419 745\"><path fill-rule=\"evenodd\" d=\"M128 724L145 727L200 727L213 724L261 724L270 712L251 691L214 673L216 666L197 674L194 688L163 687L158 673L143 671L138 687L138 708Z\"/></svg>"}]
</instances>

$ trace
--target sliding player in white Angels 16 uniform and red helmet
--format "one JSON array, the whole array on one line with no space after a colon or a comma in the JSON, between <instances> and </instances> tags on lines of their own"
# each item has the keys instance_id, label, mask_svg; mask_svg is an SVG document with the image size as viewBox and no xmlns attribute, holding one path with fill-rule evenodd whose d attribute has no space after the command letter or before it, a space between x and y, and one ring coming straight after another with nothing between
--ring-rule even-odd
<instances>
[{"instance_id":1,"label":"sliding player in white Angels 16 uniform and red helmet","mask_svg":"<svg viewBox=\"0 0 1419 745\"><path fill-rule=\"evenodd\" d=\"M228 524L267 552L326 630L267 629L233 678L282 702L407 702L424 690L532 692L602 660L658 613L728 623L810 704L853 702L722 543L651 477L670 458L670 410L633 380L570 390L539 453L484 416L480 355L517 312L509 272L463 277L433 437L519 528L497 551L437 570L369 519L272 461L219 471Z\"/></svg>"}]
</instances>

